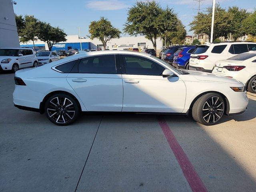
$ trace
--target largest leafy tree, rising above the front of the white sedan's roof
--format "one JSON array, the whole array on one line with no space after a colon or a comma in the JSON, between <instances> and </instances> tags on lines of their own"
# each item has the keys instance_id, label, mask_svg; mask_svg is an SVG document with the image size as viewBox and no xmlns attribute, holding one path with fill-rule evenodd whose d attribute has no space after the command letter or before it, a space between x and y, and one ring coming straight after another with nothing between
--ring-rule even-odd
<instances>
[{"instance_id":1,"label":"largest leafy tree, rising above the front of the white sedan's roof","mask_svg":"<svg viewBox=\"0 0 256 192\"><path fill-rule=\"evenodd\" d=\"M145 35L151 40L156 50L156 39L163 36L167 31L176 31L176 14L170 8L162 9L160 5L152 0L136 2L128 10L127 21L124 31L130 35Z\"/></svg>"}]
</instances>

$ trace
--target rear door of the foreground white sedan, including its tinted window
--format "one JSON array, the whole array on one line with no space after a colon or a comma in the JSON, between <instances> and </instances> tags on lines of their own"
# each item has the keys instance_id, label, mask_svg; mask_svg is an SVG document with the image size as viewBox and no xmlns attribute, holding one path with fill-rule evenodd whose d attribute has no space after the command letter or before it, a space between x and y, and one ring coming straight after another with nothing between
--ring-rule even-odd
<instances>
[{"instance_id":1,"label":"rear door of the foreground white sedan, including its tinted window","mask_svg":"<svg viewBox=\"0 0 256 192\"><path fill-rule=\"evenodd\" d=\"M67 81L88 111L122 110L123 83L114 54L82 58Z\"/></svg>"}]
</instances>

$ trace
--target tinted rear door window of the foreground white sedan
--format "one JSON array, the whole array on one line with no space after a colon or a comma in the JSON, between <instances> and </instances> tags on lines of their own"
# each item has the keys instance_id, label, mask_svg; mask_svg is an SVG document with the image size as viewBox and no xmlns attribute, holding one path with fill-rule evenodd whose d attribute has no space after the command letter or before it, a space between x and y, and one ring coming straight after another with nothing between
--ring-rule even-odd
<instances>
[{"instance_id":1,"label":"tinted rear door window of the foreground white sedan","mask_svg":"<svg viewBox=\"0 0 256 192\"><path fill-rule=\"evenodd\" d=\"M79 73L116 74L114 55L100 55L82 58L78 65Z\"/></svg>"}]
</instances>

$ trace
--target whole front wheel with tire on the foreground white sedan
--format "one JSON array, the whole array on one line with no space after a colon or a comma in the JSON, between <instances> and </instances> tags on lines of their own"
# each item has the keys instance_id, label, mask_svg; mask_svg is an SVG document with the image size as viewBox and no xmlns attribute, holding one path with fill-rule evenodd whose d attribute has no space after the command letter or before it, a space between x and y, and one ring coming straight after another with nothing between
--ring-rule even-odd
<instances>
[{"instance_id":1,"label":"whole front wheel with tire on the foreground white sedan","mask_svg":"<svg viewBox=\"0 0 256 192\"><path fill-rule=\"evenodd\" d=\"M214 125L222 118L224 111L224 98L217 93L207 93L194 103L192 116L203 125Z\"/></svg>"}]
</instances>

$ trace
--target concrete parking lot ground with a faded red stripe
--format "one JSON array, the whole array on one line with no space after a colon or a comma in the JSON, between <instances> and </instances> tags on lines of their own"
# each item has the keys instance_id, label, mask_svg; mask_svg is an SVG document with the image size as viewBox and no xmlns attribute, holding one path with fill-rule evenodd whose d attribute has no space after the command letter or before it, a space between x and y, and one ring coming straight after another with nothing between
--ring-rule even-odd
<instances>
[{"instance_id":1,"label":"concrete parking lot ground with a faded red stripe","mask_svg":"<svg viewBox=\"0 0 256 192\"><path fill-rule=\"evenodd\" d=\"M83 114L70 126L15 108L0 73L0 191L256 191L256 95L245 114Z\"/></svg>"}]
</instances>

